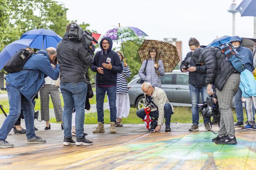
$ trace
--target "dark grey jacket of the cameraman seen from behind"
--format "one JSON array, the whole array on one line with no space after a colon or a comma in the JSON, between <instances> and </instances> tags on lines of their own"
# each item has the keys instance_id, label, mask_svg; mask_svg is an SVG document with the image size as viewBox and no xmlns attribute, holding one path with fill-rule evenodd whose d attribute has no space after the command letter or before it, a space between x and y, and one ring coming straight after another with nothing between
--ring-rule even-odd
<instances>
[{"instance_id":1,"label":"dark grey jacket of the cameraman seen from behind","mask_svg":"<svg viewBox=\"0 0 256 170\"><path fill-rule=\"evenodd\" d=\"M85 44L71 41L67 33L57 45L57 60L61 69L61 83L86 81L85 74L92 62L93 50L87 50Z\"/></svg>"}]
</instances>

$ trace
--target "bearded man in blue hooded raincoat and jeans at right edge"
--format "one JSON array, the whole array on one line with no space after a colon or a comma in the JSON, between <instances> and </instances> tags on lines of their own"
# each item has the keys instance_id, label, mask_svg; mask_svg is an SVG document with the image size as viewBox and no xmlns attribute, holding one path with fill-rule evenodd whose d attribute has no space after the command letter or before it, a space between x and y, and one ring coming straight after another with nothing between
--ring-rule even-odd
<instances>
[{"instance_id":1,"label":"bearded man in blue hooded raincoat and jeans at right edge","mask_svg":"<svg viewBox=\"0 0 256 170\"><path fill-rule=\"evenodd\" d=\"M229 43L231 43L234 46L234 49L236 50L236 52L238 54L240 54L240 57L245 64L245 68L247 70L249 70L250 72L255 72L254 66L253 66L252 51L249 48L245 48L242 46L242 41L240 40L240 38L238 36L233 36L230 39ZM244 126L243 104L242 104L241 98L242 98L242 91L240 88L238 88L236 94L234 95L236 117L237 117L237 123L234 124L234 127ZM253 121L254 121L254 119L255 118L254 118L254 114L253 114Z\"/></svg>"}]
</instances>

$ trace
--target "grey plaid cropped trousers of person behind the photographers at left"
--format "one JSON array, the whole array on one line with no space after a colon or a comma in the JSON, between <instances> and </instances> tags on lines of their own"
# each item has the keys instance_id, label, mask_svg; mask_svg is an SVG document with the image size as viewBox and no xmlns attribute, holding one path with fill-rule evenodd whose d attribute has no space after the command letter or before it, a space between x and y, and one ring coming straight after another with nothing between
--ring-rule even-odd
<instances>
[{"instance_id":1,"label":"grey plaid cropped trousers of person behind the photographers at left","mask_svg":"<svg viewBox=\"0 0 256 170\"><path fill-rule=\"evenodd\" d=\"M40 100L41 100L41 120L49 121L49 94L51 100L53 101L54 114L56 121L62 121L63 109L61 106L61 97L59 96L59 89L55 85L46 84L40 90Z\"/></svg>"}]
</instances>

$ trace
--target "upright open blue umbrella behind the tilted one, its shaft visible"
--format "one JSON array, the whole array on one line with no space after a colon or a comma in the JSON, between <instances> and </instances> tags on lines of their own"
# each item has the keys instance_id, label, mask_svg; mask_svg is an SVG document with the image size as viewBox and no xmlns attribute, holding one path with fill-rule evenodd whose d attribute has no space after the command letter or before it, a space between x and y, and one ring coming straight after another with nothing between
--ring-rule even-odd
<instances>
[{"instance_id":1,"label":"upright open blue umbrella behind the tilted one, its shaft visible","mask_svg":"<svg viewBox=\"0 0 256 170\"><path fill-rule=\"evenodd\" d=\"M47 29L32 29L25 32L20 39L34 39L30 47L36 49L56 48L59 41L62 40L61 36Z\"/></svg>"}]
</instances>

